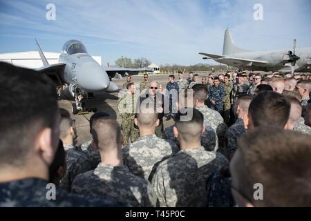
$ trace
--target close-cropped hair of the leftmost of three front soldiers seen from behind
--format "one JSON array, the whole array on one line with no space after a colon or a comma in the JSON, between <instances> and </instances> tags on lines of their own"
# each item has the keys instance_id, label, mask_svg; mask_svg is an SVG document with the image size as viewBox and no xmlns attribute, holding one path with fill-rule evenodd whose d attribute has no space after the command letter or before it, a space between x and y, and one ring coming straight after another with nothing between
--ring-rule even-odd
<instances>
[{"instance_id":1,"label":"close-cropped hair of the leftmost of three front soldiers seen from behind","mask_svg":"<svg viewBox=\"0 0 311 221\"><path fill-rule=\"evenodd\" d=\"M92 136L100 151L111 151L120 140L121 128L115 119L102 117L93 123Z\"/></svg>"}]
</instances>

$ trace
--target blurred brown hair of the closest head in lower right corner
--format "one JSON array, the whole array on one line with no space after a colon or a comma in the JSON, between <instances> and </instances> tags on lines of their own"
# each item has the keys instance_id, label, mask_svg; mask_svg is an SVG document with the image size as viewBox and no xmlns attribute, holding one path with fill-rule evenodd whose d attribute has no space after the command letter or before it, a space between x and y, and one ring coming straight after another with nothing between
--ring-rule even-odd
<instances>
[{"instance_id":1,"label":"blurred brown hair of the closest head in lower right corner","mask_svg":"<svg viewBox=\"0 0 311 221\"><path fill-rule=\"evenodd\" d=\"M238 189L254 206L310 206L311 137L281 128L261 127L238 140ZM263 200L254 200L254 184Z\"/></svg>"}]
</instances>

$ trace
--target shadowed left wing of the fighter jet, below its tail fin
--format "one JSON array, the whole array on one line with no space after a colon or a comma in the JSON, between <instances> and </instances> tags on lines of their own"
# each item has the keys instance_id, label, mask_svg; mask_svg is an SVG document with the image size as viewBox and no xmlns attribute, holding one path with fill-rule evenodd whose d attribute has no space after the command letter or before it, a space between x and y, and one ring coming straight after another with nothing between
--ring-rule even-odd
<instances>
[{"instance_id":1,"label":"shadowed left wing of the fighter jet, below its tail fin","mask_svg":"<svg viewBox=\"0 0 311 221\"><path fill-rule=\"evenodd\" d=\"M57 87L61 87L66 82L62 79L64 76L64 69L66 64L59 63L59 64L49 64L47 66L43 66L41 68L36 68L35 70L38 73L43 73L50 77L53 80Z\"/></svg>"}]
</instances>

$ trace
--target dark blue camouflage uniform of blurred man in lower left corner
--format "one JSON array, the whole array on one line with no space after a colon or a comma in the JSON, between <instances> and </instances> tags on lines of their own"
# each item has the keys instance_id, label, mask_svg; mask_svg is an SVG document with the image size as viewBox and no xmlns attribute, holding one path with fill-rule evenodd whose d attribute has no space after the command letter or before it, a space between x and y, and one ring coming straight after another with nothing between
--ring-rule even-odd
<instances>
[{"instance_id":1,"label":"dark blue camouflage uniform of blurred man in lower left corner","mask_svg":"<svg viewBox=\"0 0 311 221\"><path fill-rule=\"evenodd\" d=\"M71 206L120 206L112 200L89 198L56 189L55 200L48 200L52 189L39 178L26 178L0 183L0 207L71 207Z\"/></svg>"}]
</instances>

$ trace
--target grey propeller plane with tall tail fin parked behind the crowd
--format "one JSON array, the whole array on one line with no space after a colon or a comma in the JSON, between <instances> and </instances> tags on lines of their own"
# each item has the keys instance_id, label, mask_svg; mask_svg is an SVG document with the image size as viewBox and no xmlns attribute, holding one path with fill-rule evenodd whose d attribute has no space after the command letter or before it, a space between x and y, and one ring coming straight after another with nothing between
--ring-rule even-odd
<instances>
[{"instance_id":1,"label":"grey propeller plane with tall tail fin parked behind the crowd","mask_svg":"<svg viewBox=\"0 0 311 221\"><path fill-rule=\"evenodd\" d=\"M291 50L251 51L234 45L229 29L225 30L223 55L200 52L203 59L214 59L221 64L227 64L248 70L279 71L280 73L311 72L311 48L297 48L294 39Z\"/></svg>"}]
</instances>

